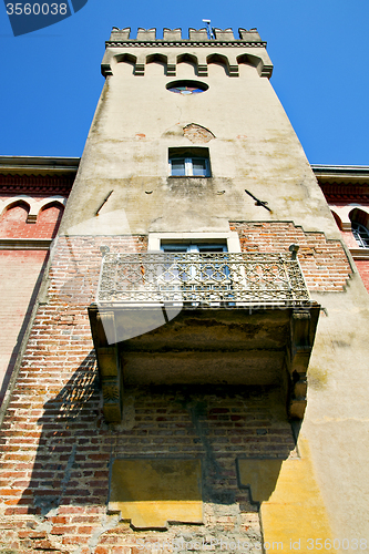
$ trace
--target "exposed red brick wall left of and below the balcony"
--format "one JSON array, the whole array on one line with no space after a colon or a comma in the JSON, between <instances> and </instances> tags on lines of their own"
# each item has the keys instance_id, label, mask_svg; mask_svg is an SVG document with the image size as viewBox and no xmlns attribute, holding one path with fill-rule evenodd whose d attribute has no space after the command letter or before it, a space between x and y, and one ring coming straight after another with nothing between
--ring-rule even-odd
<instances>
[{"instance_id":1,"label":"exposed red brick wall left of and below the balcony","mask_svg":"<svg viewBox=\"0 0 369 554\"><path fill-rule=\"evenodd\" d=\"M49 299L35 317L0 437L0 544L29 553L137 554L137 538L184 536L250 541L260 548L257 509L237 485L236 458L296 455L278 391L132 388L124 393L122 424L106 425L86 312L101 245L144 250L146 238L58 240ZM199 456L205 525L136 533L106 515L117 456ZM222 550L224 544L215 547Z\"/></svg>"}]
</instances>

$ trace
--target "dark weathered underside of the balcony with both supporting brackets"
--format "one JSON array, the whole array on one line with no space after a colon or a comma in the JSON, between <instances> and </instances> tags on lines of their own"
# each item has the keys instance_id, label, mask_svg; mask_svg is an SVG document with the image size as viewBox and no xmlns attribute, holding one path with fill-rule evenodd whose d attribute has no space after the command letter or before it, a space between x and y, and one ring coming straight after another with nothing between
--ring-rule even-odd
<instances>
[{"instance_id":1,"label":"dark weathered underside of the balcony with both supporting brackets","mask_svg":"<svg viewBox=\"0 0 369 554\"><path fill-rule=\"evenodd\" d=\"M142 335L142 320L157 320L161 308L91 306L105 417L121 420L124 384L279 383L290 417L303 418L319 309L184 308Z\"/></svg>"}]
</instances>

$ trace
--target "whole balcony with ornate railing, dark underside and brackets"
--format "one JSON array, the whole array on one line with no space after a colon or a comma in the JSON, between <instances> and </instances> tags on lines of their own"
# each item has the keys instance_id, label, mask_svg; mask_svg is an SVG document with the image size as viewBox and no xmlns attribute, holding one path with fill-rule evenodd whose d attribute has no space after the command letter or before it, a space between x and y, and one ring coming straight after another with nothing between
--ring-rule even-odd
<instances>
[{"instance_id":1,"label":"whole balcony with ornate railing, dark underside and brackets","mask_svg":"<svg viewBox=\"0 0 369 554\"><path fill-rule=\"evenodd\" d=\"M301 419L320 307L286 253L109 253L89 308L104 413L123 387L280 384Z\"/></svg>"}]
</instances>

